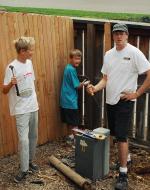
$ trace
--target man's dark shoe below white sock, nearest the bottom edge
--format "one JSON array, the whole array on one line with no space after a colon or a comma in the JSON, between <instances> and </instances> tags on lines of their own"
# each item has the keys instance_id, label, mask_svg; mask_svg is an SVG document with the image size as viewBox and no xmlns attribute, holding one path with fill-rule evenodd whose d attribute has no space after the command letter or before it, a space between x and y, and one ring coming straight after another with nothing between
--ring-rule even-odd
<instances>
[{"instance_id":1,"label":"man's dark shoe below white sock, nearest the bottom edge","mask_svg":"<svg viewBox=\"0 0 150 190\"><path fill-rule=\"evenodd\" d=\"M115 190L127 190L128 189L128 176L126 173L119 173Z\"/></svg>"}]
</instances>

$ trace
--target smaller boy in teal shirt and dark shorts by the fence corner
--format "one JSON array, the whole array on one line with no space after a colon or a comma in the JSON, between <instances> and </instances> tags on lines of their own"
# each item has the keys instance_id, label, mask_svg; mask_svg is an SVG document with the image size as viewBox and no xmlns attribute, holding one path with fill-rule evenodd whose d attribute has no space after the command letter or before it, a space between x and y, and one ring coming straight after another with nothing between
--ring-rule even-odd
<instances>
[{"instance_id":1,"label":"smaller boy in teal shirt and dark shorts by the fence corner","mask_svg":"<svg viewBox=\"0 0 150 190\"><path fill-rule=\"evenodd\" d=\"M84 86L84 81L80 83L76 71L81 63L81 51L72 50L69 57L70 63L65 67L61 86L60 107L62 122L66 123L69 129L73 129L79 125L78 89Z\"/></svg>"}]
</instances>

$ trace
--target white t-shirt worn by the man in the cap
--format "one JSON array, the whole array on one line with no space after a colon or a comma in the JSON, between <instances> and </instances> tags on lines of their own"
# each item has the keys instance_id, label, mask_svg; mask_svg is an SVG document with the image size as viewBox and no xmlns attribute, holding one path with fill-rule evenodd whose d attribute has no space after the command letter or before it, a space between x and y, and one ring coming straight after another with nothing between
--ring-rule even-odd
<instances>
[{"instance_id":1,"label":"white t-shirt worn by the man in the cap","mask_svg":"<svg viewBox=\"0 0 150 190\"><path fill-rule=\"evenodd\" d=\"M129 43L121 51L117 51L116 47L107 51L101 70L108 78L106 103L115 105L120 100L121 92L135 92L138 75L149 69L150 63L144 54Z\"/></svg>"}]
</instances>

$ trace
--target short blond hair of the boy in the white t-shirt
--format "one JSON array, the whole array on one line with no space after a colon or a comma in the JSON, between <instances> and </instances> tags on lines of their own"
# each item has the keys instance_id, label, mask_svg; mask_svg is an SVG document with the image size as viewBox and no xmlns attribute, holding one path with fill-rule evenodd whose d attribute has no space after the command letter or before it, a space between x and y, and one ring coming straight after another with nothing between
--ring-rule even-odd
<instances>
[{"instance_id":1,"label":"short blond hair of the boy in the white t-shirt","mask_svg":"<svg viewBox=\"0 0 150 190\"><path fill-rule=\"evenodd\" d=\"M20 53L21 50L27 51L34 44L35 44L35 40L33 37L22 36L16 40L14 40L14 45L15 45L17 53Z\"/></svg>"}]
</instances>

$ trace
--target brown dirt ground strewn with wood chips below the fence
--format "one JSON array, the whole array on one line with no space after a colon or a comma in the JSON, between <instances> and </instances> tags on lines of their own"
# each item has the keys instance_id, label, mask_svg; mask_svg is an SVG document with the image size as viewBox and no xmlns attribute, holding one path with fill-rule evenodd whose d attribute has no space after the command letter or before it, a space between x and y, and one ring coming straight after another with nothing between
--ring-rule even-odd
<instances>
[{"instance_id":1,"label":"brown dirt ground strewn with wood chips below the fence","mask_svg":"<svg viewBox=\"0 0 150 190\"><path fill-rule=\"evenodd\" d=\"M130 151L133 164L129 171L129 190L150 190L150 153L135 146L131 146ZM40 173L29 174L20 184L13 182L14 175L18 172L18 156L0 159L0 190L79 190L80 188L49 164L48 157L51 154L59 159L70 159L73 167L72 146L67 145L63 140L50 142L37 149L36 163L40 167ZM111 150L111 166L117 159L116 155L116 148L114 148ZM44 175L44 177L39 177L39 175ZM113 190L116 175L116 171L110 170L105 179L93 185L96 186L96 190Z\"/></svg>"}]
</instances>

